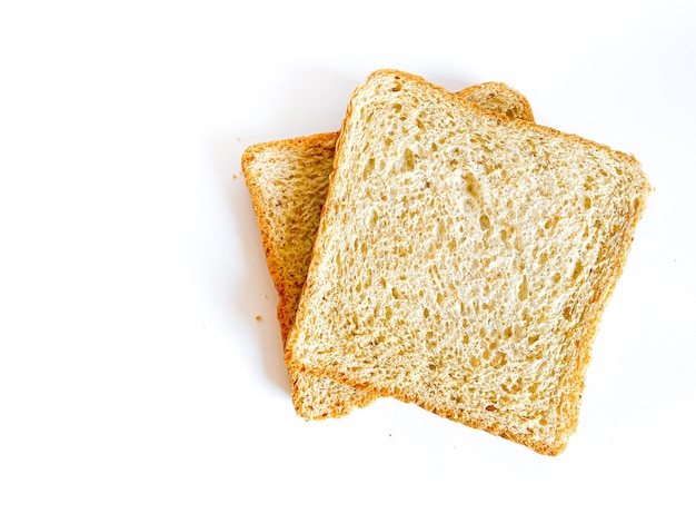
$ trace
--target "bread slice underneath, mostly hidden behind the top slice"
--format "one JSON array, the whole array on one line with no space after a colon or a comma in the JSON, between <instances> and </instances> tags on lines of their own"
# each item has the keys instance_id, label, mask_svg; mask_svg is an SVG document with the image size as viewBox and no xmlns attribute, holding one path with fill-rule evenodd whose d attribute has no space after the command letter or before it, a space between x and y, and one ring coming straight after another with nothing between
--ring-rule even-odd
<instances>
[{"instance_id":1,"label":"bread slice underneath, mostly hidden behind the top slice","mask_svg":"<svg viewBox=\"0 0 696 523\"><path fill-rule=\"evenodd\" d=\"M504 83L480 83L458 95L511 118L534 118L527 99ZM284 344L307 277L337 138L338 132L331 132L259 144L242 157L266 259L278 290ZM378 396L372 391L357 391L298 372L290 372L290 382L297 413L310 420L342 416Z\"/></svg>"}]
</instances>

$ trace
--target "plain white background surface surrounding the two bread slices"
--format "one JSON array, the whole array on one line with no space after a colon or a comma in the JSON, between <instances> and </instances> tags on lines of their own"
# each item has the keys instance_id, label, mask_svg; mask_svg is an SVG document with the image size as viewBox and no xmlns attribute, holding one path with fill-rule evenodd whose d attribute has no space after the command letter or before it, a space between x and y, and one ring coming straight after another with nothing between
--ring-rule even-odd
<instances>
[{"instance_id":1,"label":"plain white background surface surrounding the two bread slices","mask_svg":"<svg viewBox=\"0 0 696 523\"><path fill-rule=\"evenodd\" d=\"M695 28L687 0L3 2L0 521L694 521ZM240 157L338 130L384 67L507 82L655 187L558 457L392 399L294 413Z\"/></svg>"}]
</instances>

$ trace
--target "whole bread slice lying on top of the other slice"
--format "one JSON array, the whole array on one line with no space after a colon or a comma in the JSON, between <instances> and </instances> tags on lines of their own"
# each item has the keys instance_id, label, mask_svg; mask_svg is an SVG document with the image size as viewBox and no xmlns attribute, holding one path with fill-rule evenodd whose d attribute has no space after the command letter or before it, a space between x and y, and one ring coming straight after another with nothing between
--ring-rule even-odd
<instances>
[{"instance_id":1,"label":"whole bread slice lying on top of the other slice","mask_svg":"<svg viewBox=\"0 0 696 523\"><path fill-rule=\"evenodd\" d=\"M344 121L291 369L556 455L648 193L629 155L377 71Z\"/></svg>"}]
</instances>

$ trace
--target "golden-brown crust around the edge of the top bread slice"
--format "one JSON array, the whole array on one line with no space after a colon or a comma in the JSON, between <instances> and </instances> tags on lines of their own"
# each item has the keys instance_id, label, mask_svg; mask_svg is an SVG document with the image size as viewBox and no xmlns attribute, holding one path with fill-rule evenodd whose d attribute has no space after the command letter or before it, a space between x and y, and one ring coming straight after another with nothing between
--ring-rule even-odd
<instances>
[{"instance_id":1,"label":"golden-brown crust around the edge of the top bread slice","mask_svg":"<svg viewBox=\"0 0 696 523\"><path fill-rule=\"evenodd\" d=\"M339 373L332 367L322 367L322 366L312 366L310 363L305 361L301 354L295 354L296 344L299 343L299 333L304 329L304 326L309 320L309 310L307 309L307 299L306 296L311 295L316 292L316 287L319 284L320 275L318 273L319 262L325 257L324 247L325 244L320 240L325 237L328 237L331 233L330 230L334 228L335 219L336 219L336 207L337 207L337 198L335 195L335 184L334 178L337 175L337 170L341 166L341 164L346 162L346 150L347 150L347 132L346 127L349 121L351 121L357 116L354 115L355 111L355 100L360 92L361 89L366 89L366 86L369 86L371 82L377 81L379 78L390 78L395 80L404 80L409 81L414 85L425 87L425 89L432 89L438 91L440 96L453 100L453 102L460 103L466 106L466 109L469 111L474 111L477 114L478 118L484 120L488 120L494 125L506 125L510 127L520 127L520 128L534 128L536 132L541 135L546 135L548 137L557 137L563 140L568 140L569 142L576 142L587 148L588 150L595 151L605 151L609 155L613 155L620 161L625 161L633 166L633 168L640 172L642 178L637 181L639 184L638 193L639 196L635 199L633 208L628 211L627 216L625 216L625 223L623 225L623 230L620 231L620 239L618 241L619 246L616 249L617 255L612 259L610 269L607 272L606 278L603 280L601 285L599 285L594 293L594 296L590 299L589 306L583 312L583 316L580 320L577 323L575 327L577 333L576 336L576 345L570 347L571 352L571 364L574 365L573 372L570 373L570 384L568 388L564 393L564 397L558 402L558 408L564 411L559 416L563 420L563 424L557 427L556 437L553 442L544 442L538 441L531 436L526 436L525 434L515 433L505 430L499 424L495 422L486 422L480 416L471 413L465 413L463 411L457 409L447 409L441 405L437 405L434 402L426 402L417 394L412 394L409 389L399 388L398 386L380 386L379 384L364 381L359 377L356 377L350 374ZM455 95L448 92L441 87L434 86L427 82L425 79L409 75L402 71L386 69L379 70L370 75L365 85L358 86L354 91L354 95L348 105L348 110L346 114L346 118L344 120L344 127L339 135L337 146L336 146L336 156L334 158L334 171L331 175L331 182L329 184L328 195L327 195L327 205L322 209L321 220L319 225L319 230L317 238L318 240L315 244L315 248L312 251L312 263L309 268L307 283L305 286L305 290L302 293L302 298L300 299L300 305L297 310L295 328L291 330L289 339L288 339L288 351L289 356L288 361L290 363L291 368L295 368L297 372L308 373L315 376L321 377L330 377L332 379L339 381L351 387L364 389L364 391L372 391L379 395L389 395L397 399L415 403L420 405L421 407L431 411L440 416L447 417L449 420L464 423L474 428L485 430L493 434L499 435L501 437L508 438L513 442L523 444L534 450L537 453L546 454L546 455L558 455L566 447L568 438L575 432L577 427L577 420L579 413L579 404L583 394L583 389L585 386L584 378L587 365L590 359L590 348L591 342L595 337L598 324L600 322L603 312L606 307L606 304L616 286L618 277L620 276L626 258L628 256L630 243L633 240L633 234L635 227L640 219L648 194L650 191L649 184L645 175L643 175L640 166L636 158L633 155L627 155L625 152L615 151L607 146L597 144L591 140L587 140L577 135L570 135L566 132L560 132L556 129L540 126L535 122L525 121L525 120L514 120L510 121L508 118L505 118L499 115L494 115L489 111L480 110L475 105L463 101L460 99L455 99Z\"/></svg>"}]
</instances>

